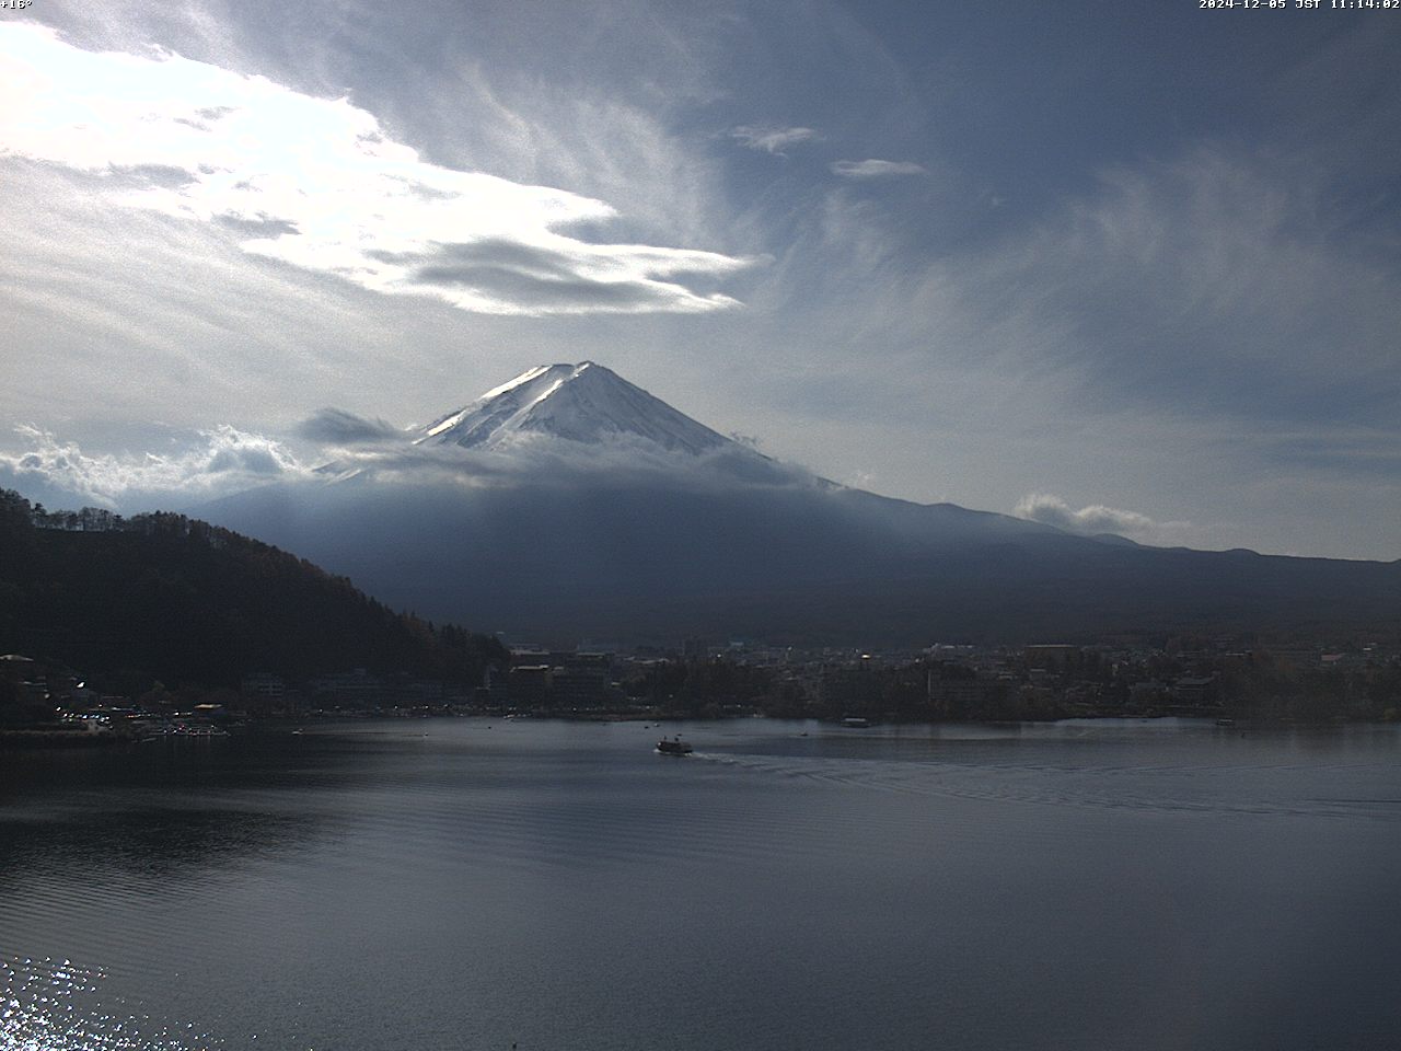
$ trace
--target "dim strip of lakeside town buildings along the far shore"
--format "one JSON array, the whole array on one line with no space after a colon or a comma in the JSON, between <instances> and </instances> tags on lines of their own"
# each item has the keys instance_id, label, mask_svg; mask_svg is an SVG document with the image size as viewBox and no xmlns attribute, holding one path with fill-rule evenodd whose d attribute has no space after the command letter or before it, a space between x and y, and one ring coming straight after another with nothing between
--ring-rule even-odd
<instances>
[{"instance_id":1,"label":"dim strip of lakeside town buildings along the far shore","mask_svg":"<svg viewBox=\"0 0 1401 1051\"><path fill-rule=\"evenodd\" d=\"M850 724L1187 716L1243 722L1393 722L1401 649L933 645L916 652L773 647L689 639L675 649L503 647L476 684L374 674L301 681L251 670L240 687L153 682L102 692L81 671L0 656L0 741L99 743L216 737L262 720L499 715L563 719L771 716Z\"/></svg>"}]
</instances>

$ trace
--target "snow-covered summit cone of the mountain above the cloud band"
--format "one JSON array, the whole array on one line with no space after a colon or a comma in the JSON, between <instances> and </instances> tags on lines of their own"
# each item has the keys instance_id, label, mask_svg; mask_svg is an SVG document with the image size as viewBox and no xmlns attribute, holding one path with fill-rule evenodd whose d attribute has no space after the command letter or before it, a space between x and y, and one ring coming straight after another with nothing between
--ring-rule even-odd
<instances>
[{"instance_id":1,"label":"snow-covered summit cone of the mountain above the cloud band","mask_svg":"<svg viewBox=\"0 0 1401 1051\"><path fill-rule=\"evenodd\" d=\"M530 369L430 423L415 443L499 448L523 434L590 444L636 436L691 454L730 444L730 439L593 362Z\"/></svg>"}]
</instances>

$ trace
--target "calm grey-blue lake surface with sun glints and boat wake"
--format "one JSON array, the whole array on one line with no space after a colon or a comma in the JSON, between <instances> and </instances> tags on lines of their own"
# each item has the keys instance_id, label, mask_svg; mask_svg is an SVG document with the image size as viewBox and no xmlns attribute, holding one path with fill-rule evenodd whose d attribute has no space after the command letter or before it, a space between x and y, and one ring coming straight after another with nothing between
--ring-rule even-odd
<instances>
[{"instance_id":1,"label":"calm grey-blue lake surface with sun glints and boat wake","mask_svg":"<svg viewBox=\"0 0 1401 1051\"><path fill-rule=\"evenodd\" d=\"M0 1048L1401 1047L1401 730L0 753Z\"/></svg>"}]
</instances>

